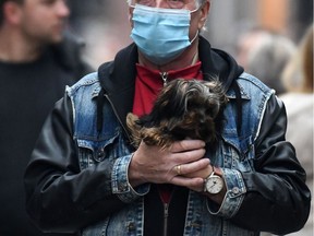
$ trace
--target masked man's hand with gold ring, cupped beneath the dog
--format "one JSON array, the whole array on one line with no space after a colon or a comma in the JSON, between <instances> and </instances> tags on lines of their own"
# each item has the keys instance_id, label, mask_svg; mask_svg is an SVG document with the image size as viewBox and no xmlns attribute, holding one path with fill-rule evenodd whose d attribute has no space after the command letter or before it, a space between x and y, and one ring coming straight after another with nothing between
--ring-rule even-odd
<instances>
[{"instance_id":1,"label":"masked man's hand with gold ring, cupped beneath the dog","mask_svg":"<svg viewBox=\"0 0 314 236\"><path fill-rule=\"evenodd\" d=\"M145 182L172 184L186 188L200 188L204 179L189 177L209 165L205 143L201 140L182 140L170 148L141 143L129 166L129 180L133 187ZM180 167L179 167L180 166Z\"/></svg>"}]
</instances>

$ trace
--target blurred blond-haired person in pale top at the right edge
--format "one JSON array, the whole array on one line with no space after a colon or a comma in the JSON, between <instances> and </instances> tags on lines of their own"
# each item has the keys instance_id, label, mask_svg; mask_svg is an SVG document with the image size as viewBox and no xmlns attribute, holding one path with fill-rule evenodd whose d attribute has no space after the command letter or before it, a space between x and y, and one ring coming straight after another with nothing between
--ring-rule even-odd
<instances>
[{"instance_id":1,"label":"blurred blond-haired person in pale top at the right edge","mask_svg":"<svg viewBox=\"0 0 314 236\"><path fill-rule=\"evenodd\" d=\"M297 156L306 172L306 185L313 192L313 24L300 43L299 50L286 67L282 75L287 93L283 101L287 115L287 139L295 148ZM302 231L291 234L295 236L313 235L313 201L310 217Z\"/></svg>"}]
</instances>

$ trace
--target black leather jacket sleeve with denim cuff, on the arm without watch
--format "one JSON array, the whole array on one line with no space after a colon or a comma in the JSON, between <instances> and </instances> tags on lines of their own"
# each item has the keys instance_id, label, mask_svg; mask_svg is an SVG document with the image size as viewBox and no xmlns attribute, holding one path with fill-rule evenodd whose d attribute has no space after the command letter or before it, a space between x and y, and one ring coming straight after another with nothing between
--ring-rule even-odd
<instances>
[{"instance_id":1,"label":"black leather jacket sleeve with denim cuff, on the arm without watch","mask_svg":"<svg viewBox=\"0 0 314 236\"><path fill-rule=\"evenodd\" d=\"M148 191L128 181L131 154L81 170L72 127L64 96L47 118L25 172L26 209L44 232L77 232Z\"/></svg>"}]
</instances>

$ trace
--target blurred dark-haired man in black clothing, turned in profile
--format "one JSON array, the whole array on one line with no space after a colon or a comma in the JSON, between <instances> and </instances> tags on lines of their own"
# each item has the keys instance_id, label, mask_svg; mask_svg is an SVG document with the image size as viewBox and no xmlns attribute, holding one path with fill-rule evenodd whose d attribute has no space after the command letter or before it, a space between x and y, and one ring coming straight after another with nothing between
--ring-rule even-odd
<instances>
[{"instance_id":1,"label":"blurred dark-haired man in black clothing, turned in profile","mask_svg":"<svg viewBox=\"0 0 314 236\"><path fill-rule=\"evenodd\" d=\"M81 43L63 36L63 0L1 0L0 9L0 235L44 235L26 214L23 175L65 85L90 70Z\"/></svg>"}]
</instances>

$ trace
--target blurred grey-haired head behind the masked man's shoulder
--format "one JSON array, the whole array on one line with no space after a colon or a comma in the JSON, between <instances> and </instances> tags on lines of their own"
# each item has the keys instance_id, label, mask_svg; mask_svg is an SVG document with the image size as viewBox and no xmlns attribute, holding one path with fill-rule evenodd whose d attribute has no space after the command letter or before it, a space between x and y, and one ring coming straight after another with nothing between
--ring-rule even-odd
<instances>
[{"instance_id":1,"label":"blurred grey-haired head behind the masked man's shoulder","mask_svg":"<svg viewBox=\"0 0 314 236\"><path fill-rule=\"evenodd\" d=\"M277 95L285 92L280 74L295 51L295 45L290 38L255 27L240 37L237 49L238 62L247 73L274 88Z\"/></svg>"}]
</instances>

